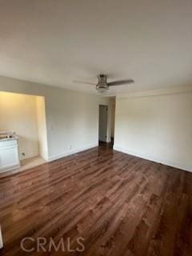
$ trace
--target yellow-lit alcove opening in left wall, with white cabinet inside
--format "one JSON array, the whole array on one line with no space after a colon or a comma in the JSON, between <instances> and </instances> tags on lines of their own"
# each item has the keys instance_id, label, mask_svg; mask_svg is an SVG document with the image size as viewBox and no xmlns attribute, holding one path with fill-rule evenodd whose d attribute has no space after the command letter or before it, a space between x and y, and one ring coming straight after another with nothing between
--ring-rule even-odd
<instances>
[{"instance_id":1,"label":"yellow-lit alcove opening in left wall, with white cabinet inside","mask_svg":"<svg viewBox=\"0 0 192 256\"><path fill-rule=\"evenodd\" d=\"M0 91L0 133L14 134L14 154L4 150L1 142L0 176L20 172L48 161L46 107L43 96ZM5 156L6 166L1 158ZM15 160L15 161L16 161Z\"/></svg>"}]
</instances>

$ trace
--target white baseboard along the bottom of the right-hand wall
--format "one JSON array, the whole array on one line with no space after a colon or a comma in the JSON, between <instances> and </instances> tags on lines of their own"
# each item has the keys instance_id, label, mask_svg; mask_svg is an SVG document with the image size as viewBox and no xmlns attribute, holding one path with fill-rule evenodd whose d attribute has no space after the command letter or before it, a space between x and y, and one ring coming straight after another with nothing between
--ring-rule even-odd
<instances>
[{"instance_id":1,"label":"white baseboard along the bottom of the right-hand wall","mask_svg":"<svg viewBox=\"0 0 192 256\"><path fill-rule=\"evenodd\" d=\"M178 168L178 169L181 169L181 170L187 170L187 171L192 172L192 166L187 166L186 164L183 164L181 162L169 161L167 159L158 158L158 157L155 157L154 155L150 155L150 154L142 154L140 152L135 152L135 151L129 150L125 147L117 146L117 145L114 145L114 150L120 151L120 152L125 153L125 154L134 155L138 158L144 158L146 160L150 160L150 161L153 161L153 162L162 163L166 166L171 166L171 167L174 167L174 168Z\"/></svg>"}]
</instances>

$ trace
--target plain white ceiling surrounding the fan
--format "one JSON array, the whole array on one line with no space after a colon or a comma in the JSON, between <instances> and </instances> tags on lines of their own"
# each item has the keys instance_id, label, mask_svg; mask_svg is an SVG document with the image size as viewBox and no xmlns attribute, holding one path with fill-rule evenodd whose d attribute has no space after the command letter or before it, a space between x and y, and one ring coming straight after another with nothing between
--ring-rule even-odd
<instances>
[{"instance_id":1,"label":"plain white ceiling surrounding the fan","mask_svg":"<svg viewBox=\"0 0 192 256\"><path fill-rule=\"evenodd\" d=\"M191 0L0 0L0 75L108 94L192 84Z\"/></svg>"}]
</instances>

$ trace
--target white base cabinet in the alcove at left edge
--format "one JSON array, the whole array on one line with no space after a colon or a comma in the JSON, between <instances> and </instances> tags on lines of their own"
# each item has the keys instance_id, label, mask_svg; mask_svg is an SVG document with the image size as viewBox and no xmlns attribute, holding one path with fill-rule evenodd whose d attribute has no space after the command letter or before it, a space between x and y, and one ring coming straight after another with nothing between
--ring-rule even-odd
<instances>
[{"instance_id":1,"label":"white base cabinet in the alcove at left edge","mask_svg":"<svg viewBox=\"0 0 192 256\"><path fill-rule=\"evenodd\" d=\"M0 140L0 173L19 166L18 139Z\"/></svg>"}]
</instances>

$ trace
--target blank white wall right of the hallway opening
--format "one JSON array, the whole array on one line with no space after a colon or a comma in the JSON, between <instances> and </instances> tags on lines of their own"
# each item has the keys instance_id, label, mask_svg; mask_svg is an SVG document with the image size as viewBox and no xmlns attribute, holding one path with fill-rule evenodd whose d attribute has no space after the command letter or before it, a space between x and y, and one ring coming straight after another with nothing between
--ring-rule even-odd
<instances>
[{"instance_id":1,"label":"blank white wall right of the hallway opening","mask_svg":"<svg viewBox=\"0 0 192 256\"><path fill-rule=\"evenodd\" d=\"M192 171L192 93L117 98L114 149Z\"/></svg>"}]
</instances>

